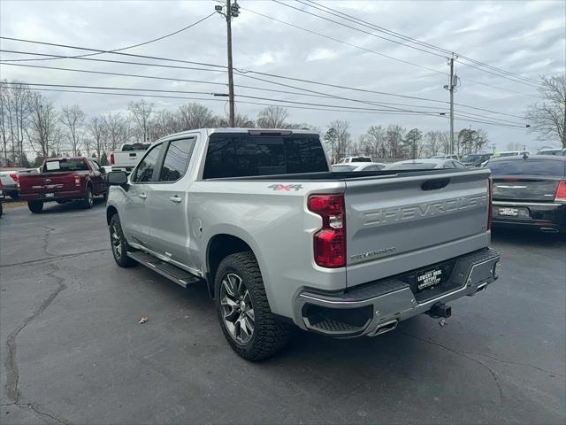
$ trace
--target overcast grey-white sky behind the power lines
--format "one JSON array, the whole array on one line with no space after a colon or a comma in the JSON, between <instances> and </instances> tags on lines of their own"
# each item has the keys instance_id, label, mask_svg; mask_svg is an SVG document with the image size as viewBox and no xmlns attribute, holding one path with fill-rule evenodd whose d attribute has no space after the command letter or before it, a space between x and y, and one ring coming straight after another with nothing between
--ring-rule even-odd
<instances>
[{"instance_id":1,"label":"overcast grey-white sky behind the power lines","mask_svg":"<svg viewBox=\"0 0 566 425\"><path fill-rule=\"evenodd\" d=\"M503 68L511 73L538 79L540 74L564 73L566 63L566 2L358 2L333 1L325 4L333 9L408 35L423 42L473 58L491 66ZM145 42L165 35L202 19L213 12L212 1L165 2L165 1L108 1L108 2L42 2L6 1L0 2L0 31L4 37L25 38L42 42L54 42L100 50L112 50ZM442 87L448 83L446 58L410 49L373 35L363 34L348 27L341 27L325 19L317 18L302 11L309 11L340 20L305 4L287 2L299 10L270 1L241 0L241 14L233 20L233 61L241 71L253 70L338 84L358 89L370 89L397 95L423 97L440 101L448 100L448 92ZM311 34L296 27L264 18L254 12L269 15L296 26L308 28L342 42L354 44L365 50ZM342 21L347 25L356 25ZM367 27L359 27L370 31ZM376 35L384 35L375 32ZM391 38L391 37L390 37ZM85 50L62 49L53 46L2 40L4 50L21 50L56 55L80 55ZM373 51L368 51L373 50ZM215 14L195 27L179 35L173 35L159 42L125 50L128 53L175 58L207 64L226 66L226 22ZM437 51L438 52L438 51ZM440 53L441 54L441 53ZM32 58L30 56L0 53L3 60L10 58ZM386 58L386 55L394 60ZM37 58L37 57L35 57ZM182 63L163 62L139 58L104 54L93 58L128 60L172 66L190 66ZM405 62L403 62L405 61ZM407 64L410 62L418 66ZM116 63L94 62L80 59L59 58L33 62L19 62L25 65L58 66L74 69L135 73L172 79L188 79L210 82L226 82L226 73L204 72L189 69L175 69L155 66L136 66ZM424 69L430 68L430 69ZM437 71L437 72L434 72ZM77 73L41 68L1 66L1 77L28 83L50 83L65 85L90 85L136 89L173 89L204 92L226 92L220 85L187 81L150 80L144 78L111 76L95 73ZM490 73L456 62L456 73L460 86L455 93L455 102L504 112L521 117L528 104L537 100L537 89L532 85L510 81ZM261 77L261 75L256 75ZM264 77L261 77L264 78ZM392 113L329 112L289 109L290 120L310 122L325 129L332 120L348 120L352 135L357 138L370 125L402 124L407 128L448 129L448 120L436 116L447 110L447 104L420 101L333 89L312 83L270 80L286 83L297 88L310 89L337 97L386 104L387 109L397 108L429 114L400 115ZM383 106L348 102L336 98L299 96L296 94L267 92L253 88L270 88L285 91L299 91L256 81L241 75L234 76L235 83L252 88L236 88L236 95L268 97L270 99L307 102L315 104L343 105L358 108L384 109ZM488 84L483 85L480 83ZM493 87L492 87L493 86ZM136 97L114 97L92 94L43 92L57 106L79 104L89 115L105 112L126 111L127 103ZM169 94L167 96L203 97L203 104L214 112L225 114L226 103L210 95ZM147 98L167 109L175 109L187 99ZM215 101L216 100L216 101ZM277 104L272 101L239 97L236 99L237 112L255 117L263 107L257 104L243 104L242 101ZM406 105L401 105L406 104ZM310 106L317 107L317 106ZM473 112L491 119L509 120L517 125L526 124L523 119L509 115L498 115L455 106L456 111ZM478 118L486 120L486 118ZM539 147L536 135L526 129L502 128L478 124L468 120L455 121L455 129L484 128L490 141L499 150L509 142L527 144L531 149Z\"/></svg>"}]
</instances>

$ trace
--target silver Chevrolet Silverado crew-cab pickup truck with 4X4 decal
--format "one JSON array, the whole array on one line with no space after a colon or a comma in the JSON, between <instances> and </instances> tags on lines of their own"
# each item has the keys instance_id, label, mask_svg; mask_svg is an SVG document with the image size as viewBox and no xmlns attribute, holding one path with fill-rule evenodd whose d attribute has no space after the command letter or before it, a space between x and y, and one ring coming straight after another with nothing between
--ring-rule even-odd
<instances>
[{"instance_id":1,"label":"silver Chevrolet Silverado crew-cab pickup truck with 4X4 decal","mask_svg":"<svg viewBox=\"0 0 566 425\"><path fill-rule=\"evenodd\" d=\"M227 341L264 359L292 325L377 336L497 279L489 170L329 171L317 134L191 130L108 174L114 259L203 282Z\"/></svg>"}]
</instances>

